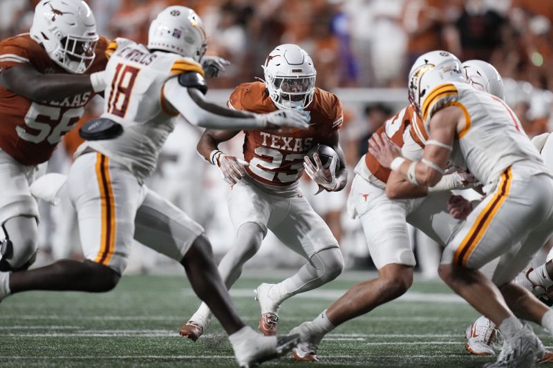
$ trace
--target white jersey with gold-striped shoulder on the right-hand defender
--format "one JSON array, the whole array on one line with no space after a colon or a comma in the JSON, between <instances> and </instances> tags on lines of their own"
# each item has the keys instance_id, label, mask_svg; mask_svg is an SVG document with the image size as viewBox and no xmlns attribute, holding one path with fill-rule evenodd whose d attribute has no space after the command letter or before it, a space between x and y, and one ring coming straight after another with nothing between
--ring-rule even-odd
<instances>
[{"instance_id":1,"label":"white jersey with gold-striped shoulder on the right-hand defender","mask_svg":"<svg viewBox=\"0 0 553 368\"><path fill-rule=\"evenodd\" d=\"M428 139L433 113L443 106L458 106L465 114L467 124L457 134L452 156L460 151L478 181L495 183L503 171L522 160L536 168L536 173L547 172L521 122L505 102L463 82L442 84L430 91L422 106L424 126L417 130L422 142Z\"/></svg>"}]
</instances>

